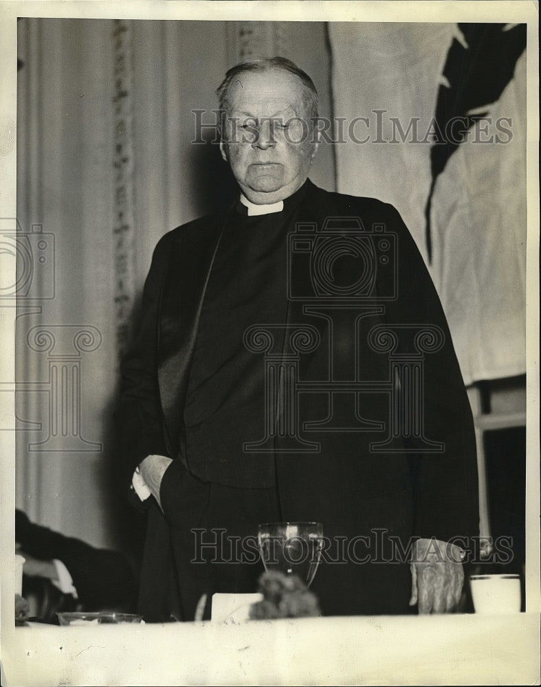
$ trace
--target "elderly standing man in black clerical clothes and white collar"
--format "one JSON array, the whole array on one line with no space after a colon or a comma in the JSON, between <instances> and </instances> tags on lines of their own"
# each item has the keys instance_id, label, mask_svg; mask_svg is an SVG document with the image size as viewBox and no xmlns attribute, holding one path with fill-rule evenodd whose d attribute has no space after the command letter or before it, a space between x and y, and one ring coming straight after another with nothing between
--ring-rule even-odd
<instances>
[{"instance_id":1,"label":"elderly standing man in black clerical clothes and white collar","mask_svg":"<svg viewBox=\"0 0 541 687\"><path fill-rule=\"evenodd\" d=\"M257 60L217 92L239 198L159 241L122 365L126 477L148 508L140 611L192 620L202 594L255 591L273 521L323 524L323 613L450 611L478 527L475 440L419 251L392 206L307 179L305 72Z\"/></svg>"}]
</instances>

